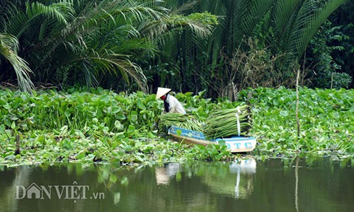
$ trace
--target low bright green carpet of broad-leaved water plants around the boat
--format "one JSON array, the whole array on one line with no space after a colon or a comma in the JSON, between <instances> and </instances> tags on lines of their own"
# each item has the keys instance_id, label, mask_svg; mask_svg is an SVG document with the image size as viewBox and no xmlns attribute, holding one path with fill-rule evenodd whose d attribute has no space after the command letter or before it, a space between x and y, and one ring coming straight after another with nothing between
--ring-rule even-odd
<instances>
[{"instance_id":1,"label":"low bright green carpet of broad-leaved water plants around the boat","mask_svg":"<svg viewBox=\"0 0 354 212\"><path fill-rule=\"evenodd\" d=\"M300 89L299 138L294 90L244 90L238 102L205 99L203 92L177 93L176 97L200 120L249 102L253 112L250 134L258 139L253 155L348 157L354 153L353 91ZM156 163L238 157L226 151L226 146L189 148L158 134L156 122L162 110L154 94L142 92L39 90L29 95L0 90L0 163ZM18 136L21 153L15 155Z\"/></svg>"}]
</instances>

